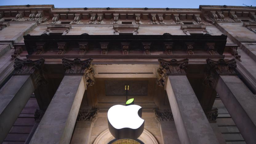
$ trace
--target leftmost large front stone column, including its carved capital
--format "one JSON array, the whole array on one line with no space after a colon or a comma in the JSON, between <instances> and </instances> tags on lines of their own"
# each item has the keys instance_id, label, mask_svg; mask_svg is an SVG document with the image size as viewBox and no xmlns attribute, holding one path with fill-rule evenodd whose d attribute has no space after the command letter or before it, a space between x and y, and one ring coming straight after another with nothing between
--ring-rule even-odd
<instances>
[{"instance_id":1,"label":"leftmost large front stone column, including its carved capital","mask_svg":"<svg viewBox=\"0 0 256 144\"><path fill-rule=\"evenodd\" d=\"M46 83L44 61L15 59L13 76L0 90L0 143L4 141L34 90Z\"/></svg>"}]
</instances>

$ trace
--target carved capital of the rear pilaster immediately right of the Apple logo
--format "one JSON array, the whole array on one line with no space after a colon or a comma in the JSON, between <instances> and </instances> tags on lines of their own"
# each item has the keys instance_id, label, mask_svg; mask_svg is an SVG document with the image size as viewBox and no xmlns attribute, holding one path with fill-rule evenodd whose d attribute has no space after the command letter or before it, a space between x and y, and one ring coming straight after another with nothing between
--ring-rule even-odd
<instances>
[{"instance_id":1,"label":"carved capital of the rear pilaster immediately right of the Apple logo","mask_svg":"<svg viewBox=\"0 0 256 144\"><path fill-rule=\"evenodd\" d=\"M155 113L155 119L158 122L174 122L171 110L153 109L153 111Z\"/></svg>"}]
</instances>

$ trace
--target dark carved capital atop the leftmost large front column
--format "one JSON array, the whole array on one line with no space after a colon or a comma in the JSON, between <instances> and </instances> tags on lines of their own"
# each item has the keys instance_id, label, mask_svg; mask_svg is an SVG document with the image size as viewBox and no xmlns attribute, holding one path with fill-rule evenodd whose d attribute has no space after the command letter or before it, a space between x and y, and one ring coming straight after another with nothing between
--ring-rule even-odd
<instances>
[{"instance_id":1,"label":"dark carved capital atop the leftmost large front column","mask_svg":"<svg viewBox=\"0 0 256 144\"><path fill-rule=\"evenodd\" d=\"M44 75L44 62L44 58L35 61L15 58L13 75L30 75L35 88L41 85L47 85L48 82Z\"/></svg>"}]
</instances>

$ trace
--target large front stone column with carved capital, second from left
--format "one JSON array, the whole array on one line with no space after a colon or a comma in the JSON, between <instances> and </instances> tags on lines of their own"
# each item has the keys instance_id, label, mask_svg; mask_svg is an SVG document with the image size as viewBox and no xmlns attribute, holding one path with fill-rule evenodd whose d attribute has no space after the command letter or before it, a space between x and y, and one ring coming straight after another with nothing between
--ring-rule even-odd
<instances>
[{"instance_id":1,"label":"large front stone column with carved capital, second from left","mask_svg":"<svg viewBox=\"0 0 256 144\"><path fill-rule=\"evenodd\" d=\"M70 143L83 94L94 84L92 59L81 61L63 58L66 70L30 144Z\"/></svg>"}]
</instances>

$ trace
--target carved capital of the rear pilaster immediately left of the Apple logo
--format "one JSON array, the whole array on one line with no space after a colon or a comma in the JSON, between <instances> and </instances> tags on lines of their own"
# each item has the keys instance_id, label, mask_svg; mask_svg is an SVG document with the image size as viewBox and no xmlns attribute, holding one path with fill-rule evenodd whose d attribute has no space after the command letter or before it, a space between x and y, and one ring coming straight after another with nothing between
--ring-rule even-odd
<instances>
[{"instance_id":1,"label":"carved capital of the rear pilaster immediately left of the Apple logo","mask_svg":"<svg viewBox=\"0 0 256 144\"><path fill-rule=\"evenodd\" d=\"M97 108L93 110L79 110L77 121L91 121L94 124L98 118L98 112Z\"/></svg>"}]
</instances>

